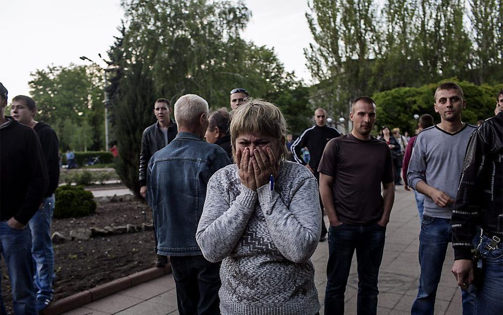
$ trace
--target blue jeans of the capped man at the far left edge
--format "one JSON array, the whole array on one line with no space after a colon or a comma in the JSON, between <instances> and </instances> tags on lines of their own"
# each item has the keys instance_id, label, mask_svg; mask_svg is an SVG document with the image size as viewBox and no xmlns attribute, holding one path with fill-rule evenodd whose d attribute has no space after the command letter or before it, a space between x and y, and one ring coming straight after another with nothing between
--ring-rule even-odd
<instances>
[{"instance_id":1,"label":"blue jeans of the capped man at the far left edge","mask_svg":"<svg viewBox=\"0 0 503 315\"><path fill-rule=\"evenodd\" d=\"M7 221L0 222L0 244L11 280L14 314L37 314L33 288L30 228L26 226L18 230L7 225ZM0 311L2 315L7 314L3 300Z\"/></svg>"}]
</instances>

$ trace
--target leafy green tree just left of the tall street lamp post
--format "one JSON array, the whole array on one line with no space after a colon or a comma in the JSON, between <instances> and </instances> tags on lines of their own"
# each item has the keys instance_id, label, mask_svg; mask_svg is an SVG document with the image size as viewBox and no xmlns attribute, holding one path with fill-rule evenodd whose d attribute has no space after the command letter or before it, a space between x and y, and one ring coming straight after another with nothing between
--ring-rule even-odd
<instances>
[{"instance_id":1,"label":"leafy green tree just left of the tall street lamp post","mask_svg":"<svg viewBox=\"0 0 503 315\"><path fill-rule=\"evenodd\" d=\"M37 120L51 125L62 150L104 147L102 75L92 66L48 66L31 74Z\"/></svg>"}]
</instances>

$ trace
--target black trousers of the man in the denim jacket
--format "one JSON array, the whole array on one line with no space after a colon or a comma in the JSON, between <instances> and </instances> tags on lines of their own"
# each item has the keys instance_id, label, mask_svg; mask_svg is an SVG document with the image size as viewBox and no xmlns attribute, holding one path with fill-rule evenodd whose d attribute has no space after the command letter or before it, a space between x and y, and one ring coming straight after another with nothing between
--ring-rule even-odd
<instances>
[{"instance_id":1,"label":"black trousers of the man in the denim jacket","mask_svg":"<svg viewBox=\"0 0 503 315\"><path fill-rule=\"evenodd\" d=\"M220 263L200 256L171 256L180 315L220 314Z\"/></svg>"}]
</instances>

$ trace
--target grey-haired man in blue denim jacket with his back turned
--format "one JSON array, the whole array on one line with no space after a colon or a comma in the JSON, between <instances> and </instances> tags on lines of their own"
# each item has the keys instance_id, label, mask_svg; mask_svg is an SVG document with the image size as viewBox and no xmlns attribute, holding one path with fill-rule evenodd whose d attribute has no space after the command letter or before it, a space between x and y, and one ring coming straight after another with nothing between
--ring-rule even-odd
<instances>
[{"instance_id":1,"label":"grey-haired man in blue denim jacket with his back turned","mask_svg":"<svg viewBox=\"0 0 503 315\"><path fill-rule=\"evenodd\" d=\"M157 254L171 256L180 314L218 314L220 264L204 259L196 242L206 186L231 164L221 147L204 142L208 102L187 94L175 103L178 135L148 163L148 202L153 209Z\"/></svg>"}]
</instances>

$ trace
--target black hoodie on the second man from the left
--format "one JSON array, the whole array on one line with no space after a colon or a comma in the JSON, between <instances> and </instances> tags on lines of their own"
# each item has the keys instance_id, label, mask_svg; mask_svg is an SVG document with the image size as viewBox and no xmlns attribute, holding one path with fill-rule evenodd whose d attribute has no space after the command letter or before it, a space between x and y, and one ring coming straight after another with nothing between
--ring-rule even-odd
<instances>
[{"instance_id":1,"label":"black hoodie on the second man from the left","mask_svg":"<svg viewBox=\"0 0 503 315\"><path fill-rule=\"evenodd\" d=\"M44 151L45 164L49 173L49 186L44 197L50 197L58 187L59 182L59 142L51 126L42 121L37 122L33 128L38 135L42 151Z\"/></svg>"}]
</instances>

